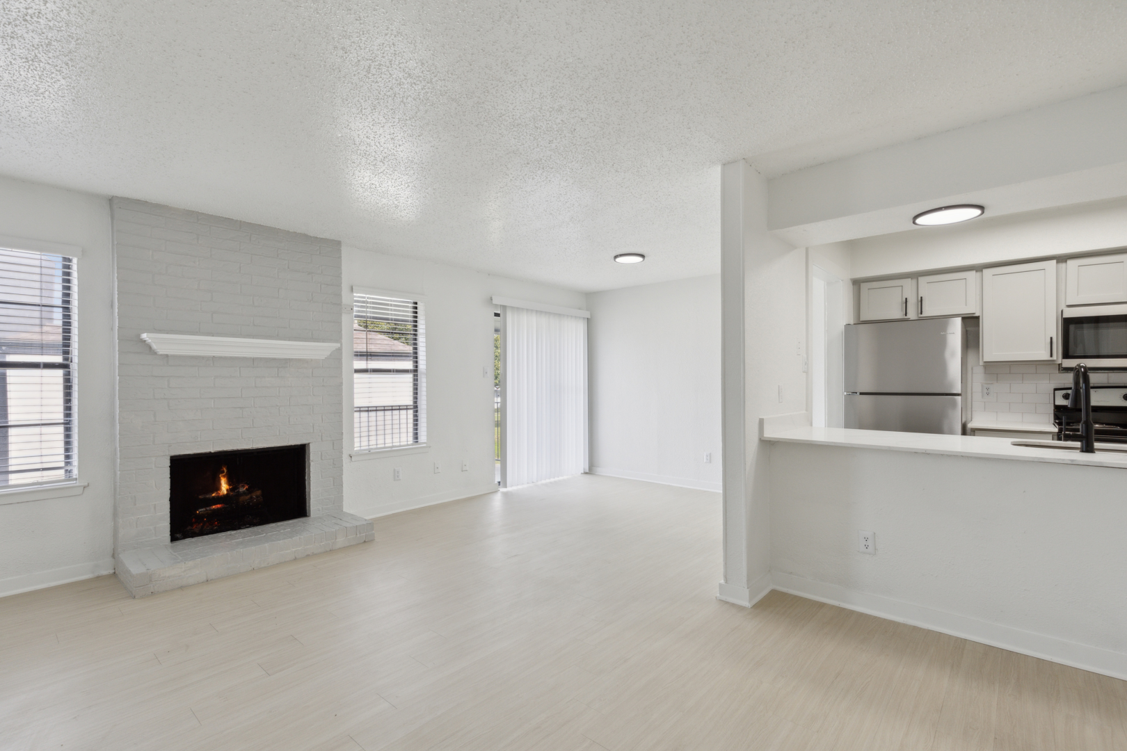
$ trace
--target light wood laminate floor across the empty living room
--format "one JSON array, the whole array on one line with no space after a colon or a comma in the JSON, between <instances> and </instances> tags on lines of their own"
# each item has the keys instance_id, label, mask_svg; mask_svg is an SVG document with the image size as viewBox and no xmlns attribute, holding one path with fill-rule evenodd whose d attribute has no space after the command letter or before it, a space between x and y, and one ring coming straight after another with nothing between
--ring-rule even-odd
<instances>
[{"instance_id":1,"label":"light wood laminate floor across the empty living room","mask_svg":"<svg viewBox=\"0 0 1127 751\"><path fill-rule=\"evenodd\" d=\"M5 749L1127 749L1127 683L774 592L716 493L584 475L133 600L0 599Z\"/></svg>"}]
</instances>

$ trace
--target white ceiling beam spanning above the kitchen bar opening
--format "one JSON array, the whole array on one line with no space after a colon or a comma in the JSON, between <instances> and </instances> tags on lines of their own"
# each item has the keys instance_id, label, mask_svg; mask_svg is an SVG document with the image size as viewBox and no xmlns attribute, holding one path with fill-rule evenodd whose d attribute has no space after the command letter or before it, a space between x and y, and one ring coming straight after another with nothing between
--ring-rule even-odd
<instances>
[{"instance_id":1,"label":"white ceiling beam spanning above the kitchen bar opening","mask_svg":"<svg viewBox=\"0 0 1127 751\"><path fill-rule=\"evenodd\" d=\"M1127 196L1127 87L774 178L767 226L796 245L913 227L921 211L988 216Z\"/></svg>"}]
</instances>

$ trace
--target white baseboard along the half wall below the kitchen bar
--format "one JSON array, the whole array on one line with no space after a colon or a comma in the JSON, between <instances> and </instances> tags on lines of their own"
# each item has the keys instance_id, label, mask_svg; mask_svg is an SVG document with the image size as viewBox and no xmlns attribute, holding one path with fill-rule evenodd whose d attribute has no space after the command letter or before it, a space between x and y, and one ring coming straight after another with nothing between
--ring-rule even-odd
<instances>
[{"instance_id":1,"label":"white baseboard along the half wall below the kitchen bar","mask_svg":"<svg viewBox=\"0 0 1127 751\"><path fill-rule=\"evenodd\" d=\"M1127 654L1122 652L1077 644L1056 636L1035 634L1012 626L912 605L880 594L859 592L793 574L773 572L771 583L772 589L819 602L837 605L850 610L1127 680Z\"/></svg>"}]
</instances>

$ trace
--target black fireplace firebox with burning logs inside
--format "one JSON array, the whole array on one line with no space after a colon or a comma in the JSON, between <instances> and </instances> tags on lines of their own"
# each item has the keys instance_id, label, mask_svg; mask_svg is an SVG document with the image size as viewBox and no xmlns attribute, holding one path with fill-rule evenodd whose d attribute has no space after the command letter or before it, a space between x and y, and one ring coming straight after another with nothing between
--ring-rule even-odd
<instances>
[{"instance_id":1,"label":"black fireplace firebox with burning logs inside","mask_svg":"<svg viewBox=\"0 0 1127 751\"><path fill-rule=\"evenodd\" d=\"M309 516L308 446L171 457L171 542Z\"/></svg>"}]
</instances>

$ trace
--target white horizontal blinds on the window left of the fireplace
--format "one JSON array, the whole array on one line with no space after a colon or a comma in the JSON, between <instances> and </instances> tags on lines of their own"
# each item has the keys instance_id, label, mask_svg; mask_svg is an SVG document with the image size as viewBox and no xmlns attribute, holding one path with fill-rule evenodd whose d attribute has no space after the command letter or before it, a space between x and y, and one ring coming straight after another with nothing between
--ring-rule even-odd
<instances>
[{"instance_id":1,"label":"white horizontal blinds on the window left of the fireplace","mask_svg":"<svg viewBox=\"0 0 1127 751\"><path fill-rule=\"evenodd\" d=\"M0 485L74 477L74 259L0 248Z\"/></svg>"}]
</instances>

